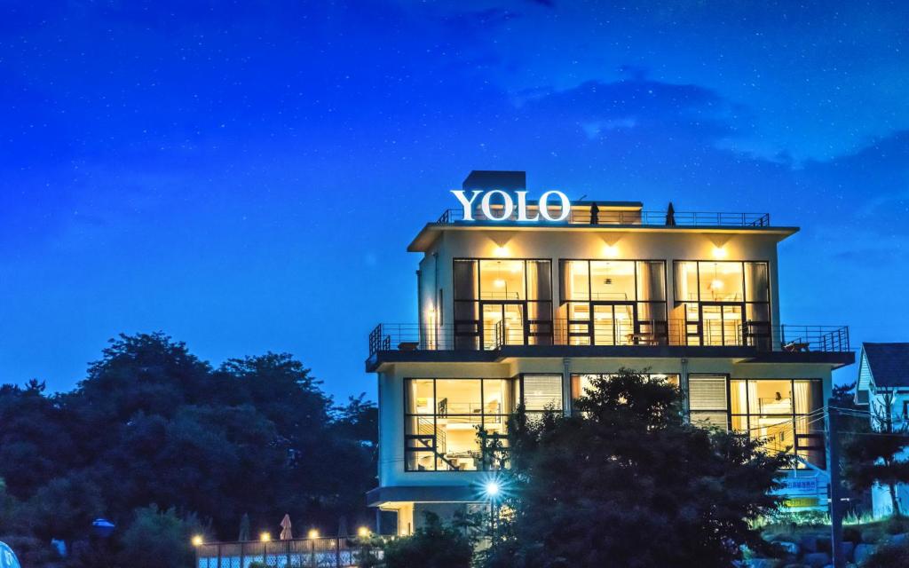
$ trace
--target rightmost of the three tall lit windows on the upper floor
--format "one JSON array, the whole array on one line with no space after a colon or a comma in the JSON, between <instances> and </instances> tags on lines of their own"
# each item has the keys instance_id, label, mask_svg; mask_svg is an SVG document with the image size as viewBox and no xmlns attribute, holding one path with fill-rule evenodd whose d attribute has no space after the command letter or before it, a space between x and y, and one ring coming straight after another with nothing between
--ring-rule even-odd
<instances>
[{"instance_id":1,"label":"rightmost of the three tall lit windows on the upper floor","mask_svg":"<svg viewBox=\"0 0 909 568\"><path fill-rule=\"evenodd\" d=\"M767 263L675 261L674 269L686 344L770 347Z\"/></svg>"}]
</instances>

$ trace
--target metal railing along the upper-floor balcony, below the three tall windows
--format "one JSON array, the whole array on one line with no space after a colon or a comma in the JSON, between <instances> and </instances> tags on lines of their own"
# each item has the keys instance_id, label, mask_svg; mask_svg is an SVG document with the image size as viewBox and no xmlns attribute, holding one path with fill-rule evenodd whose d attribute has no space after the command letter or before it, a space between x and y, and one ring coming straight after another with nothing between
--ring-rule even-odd
<instances>
[{"instance_id":1,"label":"metal railing along the upper-floor balcony, below the three tall windows","mask_svg":"<svg viewBox=\"0 0 909 568\"><path fill-rule=\"evenodd\" d=\"M534 320L516 324L379 324L370 356L391 351L494 351L510 345L687 345L754 347L788 353L851 351L849 328L838 325L701 324L684 320Z\"/></svg>"}]
</instances>

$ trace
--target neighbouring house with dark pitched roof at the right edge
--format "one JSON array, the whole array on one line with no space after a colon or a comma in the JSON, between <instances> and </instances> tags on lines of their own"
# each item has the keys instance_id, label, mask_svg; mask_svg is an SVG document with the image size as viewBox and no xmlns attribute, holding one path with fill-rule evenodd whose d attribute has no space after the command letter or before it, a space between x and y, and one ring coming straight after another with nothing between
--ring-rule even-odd
<instances>
[{"instance_id":1,"label":"neighbouring house with dark pitched roof at the right edge","mask_svg":"<svg viewBox=\"0 0 909 568\"><path fill-rule=\"evenodd\" d=\"M905 433L909 429L909 344L862 344L859 356L855 403L866 405L874 430ZM888 423L889 422L889 426ZM899 455L909 461L909 451ZM896 486L902 510L909 507L909 485ZM874 486L871 491L874 516L894 512L889 488Z\"/></svg>"}]
</instances>

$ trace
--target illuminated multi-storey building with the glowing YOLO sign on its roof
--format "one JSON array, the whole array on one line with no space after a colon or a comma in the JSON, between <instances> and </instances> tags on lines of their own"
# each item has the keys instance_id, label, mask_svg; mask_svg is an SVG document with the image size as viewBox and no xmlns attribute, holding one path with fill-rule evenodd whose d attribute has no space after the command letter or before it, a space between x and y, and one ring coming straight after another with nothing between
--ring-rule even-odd
<instances>
[{"instance_id":1,"label":"illuminated multi-storey building with the glowing YOLO sign on its roof","mask_svg":"<svg viewBox=\"0 0 909 568\"><path fill-rule=\"evenodd\" d=\"M458 208L408 251L419 321L380 324L379 486L371 506L410 533L432 510L482 503L494 467L477 427L508 414L571 413L595 375L622 367L680 384L697 424L768 438L798 455L790 505L824 506L823 409L854 362L848 330L781 324L777 244L798 229L768 214L675 213L637 202L527 198L523 172L474 172Z\"/></svg>"}]
</instances>

